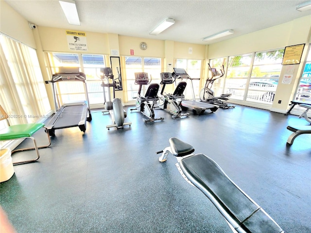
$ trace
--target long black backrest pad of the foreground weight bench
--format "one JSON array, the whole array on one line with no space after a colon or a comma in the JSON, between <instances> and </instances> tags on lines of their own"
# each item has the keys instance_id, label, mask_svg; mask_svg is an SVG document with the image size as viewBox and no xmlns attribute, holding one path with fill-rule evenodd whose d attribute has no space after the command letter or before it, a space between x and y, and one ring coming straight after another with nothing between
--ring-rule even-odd
<instances>
[{"instance_id":1,"label":"long black backrest pad of the foreground weight bench","mask_svg":"<svg viewBox=\"0 0 311 233\"><path fill-rule=\"evenodd\" d=\"M225 217L230 216L244 231L282 232L282 229L259 209L254 201L244 195L222 168L206 155L195 154L185 158L181 160L180 167L187 178L214 203L218 210ZM256 210L257 212L253 214ZM240 232L240 229L237 230Z\"/></svg>"}]
</instances>

